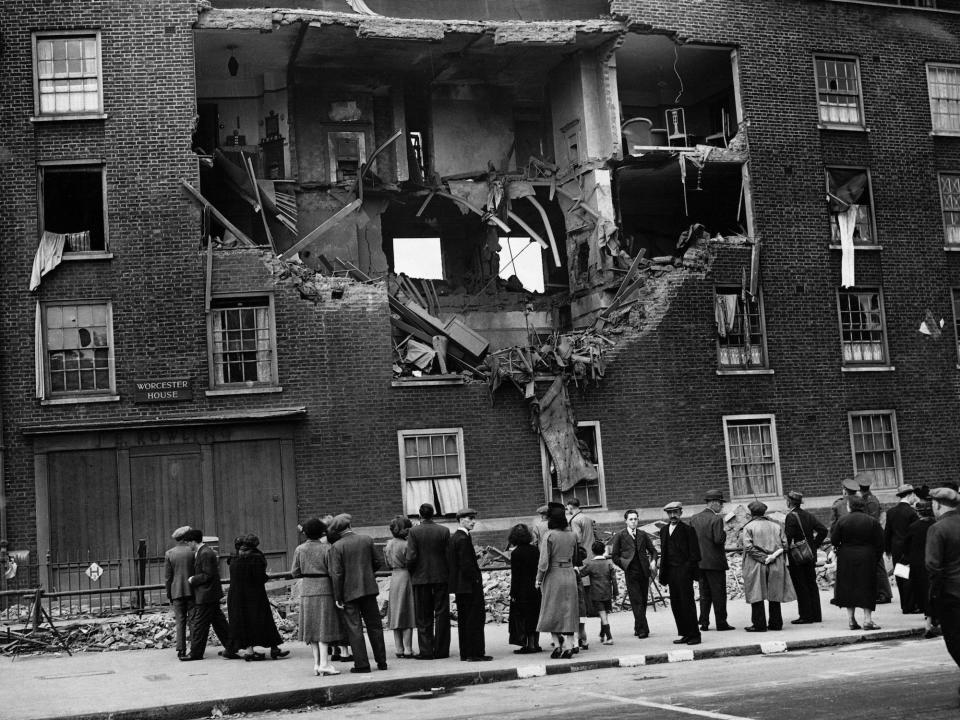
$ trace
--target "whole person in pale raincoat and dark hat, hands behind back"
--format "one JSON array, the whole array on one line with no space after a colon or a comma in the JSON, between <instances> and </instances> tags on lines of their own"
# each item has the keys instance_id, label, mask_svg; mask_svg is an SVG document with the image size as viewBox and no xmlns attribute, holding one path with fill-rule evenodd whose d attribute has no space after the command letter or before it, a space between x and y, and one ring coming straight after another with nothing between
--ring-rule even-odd
<instances>
[{"instance_id":1,"label":"whole person in pale raincoat and dark hat, hands behind back","mask_svg":"<svg viewBox=\"0 0 960 720\"><path fill-rule=\"evenodd\" d=\"M766 517L767 506L754 500L747 506L751 518L741 530L743 544L743 593L751 605L753 624L747 632L783 629L780 603L797 599L787 572L787 536L783 526ZM770 621L763 602L770 605Z\"/></svg>"}]
</instances>

